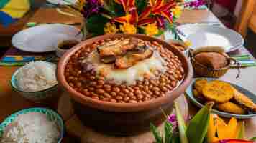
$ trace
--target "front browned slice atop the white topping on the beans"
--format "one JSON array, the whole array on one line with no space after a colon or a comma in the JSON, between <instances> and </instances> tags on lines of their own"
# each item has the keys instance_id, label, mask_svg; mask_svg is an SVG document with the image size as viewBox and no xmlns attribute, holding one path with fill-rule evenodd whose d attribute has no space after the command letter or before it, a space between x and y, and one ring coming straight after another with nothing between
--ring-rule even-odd
<instances>
[{"instance_id":1,"label":"front browned slice atop the white topping on the beans","mask_svg":"<svg viewBox=\"0 0 256 143\"><path fill-rule=\"evenodd\" d=\"M153 51L151 49L147 49L142 54L127 53L124 56L119 56L116 58L115 66L117 69L127 69L136 64L138 61L150 58L152 54Z\"/></svg>"}]
</instances>

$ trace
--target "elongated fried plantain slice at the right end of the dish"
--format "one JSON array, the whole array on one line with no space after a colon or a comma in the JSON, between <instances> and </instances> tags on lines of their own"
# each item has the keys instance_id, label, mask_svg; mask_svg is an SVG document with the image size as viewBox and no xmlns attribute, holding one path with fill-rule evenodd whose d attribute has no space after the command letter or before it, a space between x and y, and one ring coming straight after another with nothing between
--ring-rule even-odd
<instances>
[{"instance_id":1,"label":"elongated fried plantain slice at the right end of the dish","mask_svg":"<svg viewBox=\"0 0 256 143\"><path fill-rule=\"evenodd\" d=\"M256 105L252 100L247 97L246 95L239 92L237 89L234 88L234 100L241 104L243 107L249 109L252 112L256 112Z\"/></svg>"}]
</instances>

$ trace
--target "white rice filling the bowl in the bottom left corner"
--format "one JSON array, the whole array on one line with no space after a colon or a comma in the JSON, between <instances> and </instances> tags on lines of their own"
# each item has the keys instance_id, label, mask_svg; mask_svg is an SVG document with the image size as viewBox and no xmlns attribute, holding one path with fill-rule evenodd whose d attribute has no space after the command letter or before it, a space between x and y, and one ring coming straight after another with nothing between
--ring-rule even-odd
<instances>
[{"instance_id":1,"label":"white rice filling the bowl in the bottom left corner","mask_svg":"<svg viewBox=\"0 0 256 143\"><path fill-rule=\"evenodd\" d=\"M6 126L1 143L57 143L60 131L55 122L45 114L29 112L20 114Z\"/></svg>"}]
</instances>

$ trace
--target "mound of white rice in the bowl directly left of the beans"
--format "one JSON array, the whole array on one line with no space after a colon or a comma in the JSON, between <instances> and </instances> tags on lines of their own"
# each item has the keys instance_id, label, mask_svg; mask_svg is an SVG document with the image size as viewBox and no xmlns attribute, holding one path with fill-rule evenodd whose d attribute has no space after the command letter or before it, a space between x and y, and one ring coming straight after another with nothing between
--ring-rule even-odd
<instances>
[{"instance_id":1,"label":"mound of white rice in the bowl directly left of the beans","mask_svg":"<svg viewBox=\"0 0 256 143\"><path fill-rule=\"evenodd\" d=\"M19 69L17 87L24 92L37 92L57 84L56 65L45 61L32 61Z\"/></svg>"}]
</instances>

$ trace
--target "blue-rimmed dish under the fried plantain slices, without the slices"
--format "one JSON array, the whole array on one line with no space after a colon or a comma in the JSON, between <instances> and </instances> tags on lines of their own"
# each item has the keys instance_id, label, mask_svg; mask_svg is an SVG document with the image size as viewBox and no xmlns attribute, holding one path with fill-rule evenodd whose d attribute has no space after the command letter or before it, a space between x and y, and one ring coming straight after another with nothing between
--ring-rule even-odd
<instances>
[{"instance_id":1,"label":"blue-rimmed dish under the fried plantain slices, without the slices","mask_svg":"<svg viewBox=\"0 0 256 143\"><path fill-rule=\"evenodd\" d=\"M196 78L196 79L207 79L208 81L218 80L218 79L214 79L214 78ZM196 99L193 96L193 84L196 82L196 79L193 79L193 82L191 82L191 84L189 85L188 89L186 89L186 96L189 99L191 99L193 104L196 104L196 106L201 108L201 107L204 107L204 105L201 104L200 102L198 102L198 99ZM227 82L227 83L229 83L229 82ZM238 86L236 84L232 84L232 83L229 83L229 84L231 84L239 92L241 92L242 94L246 95L247 97L252 99L253 102L256 103L256 95L255 94L253 94L252 92L248 91L247 89L244 89L243 87L240 87L240 86ZM227 118L236 117L237 119L248 119L248 118L256 116L255 112L249 112L248 114L232 114L232 113L228 113L228 112L221 112L221 111L216 110L216 109L213 109L212 112L215 113L215 114L218 114L221 117L227 117Z\"/></svg>"}]
</instances>

